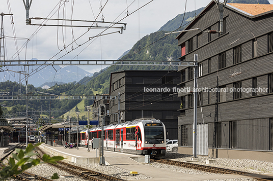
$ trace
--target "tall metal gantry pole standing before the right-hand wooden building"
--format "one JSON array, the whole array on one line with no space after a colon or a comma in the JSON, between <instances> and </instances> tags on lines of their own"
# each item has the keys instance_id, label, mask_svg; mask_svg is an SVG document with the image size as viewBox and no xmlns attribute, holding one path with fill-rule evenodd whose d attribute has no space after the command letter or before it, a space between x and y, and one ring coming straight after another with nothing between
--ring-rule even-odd
<instances>
[{"instance_id":1,"label":"tall metal gantry pole standing before the right-hand wooden building","mask_svg":"<svg viewBox=\"0 0 273 181\"><path fill-rule=\"evenodd\" d=\"M198 55L195 54L195 57L194 57L194 74L195 74L195 79L194 79L194 127L193 127L193 155L194 157L196 157L197 155L197 94L198 94L198 91L196 90L197 89L197 76L198 76L198 63L197 63L197 60L198 60Z\"/></svg>"}]
</instances>

